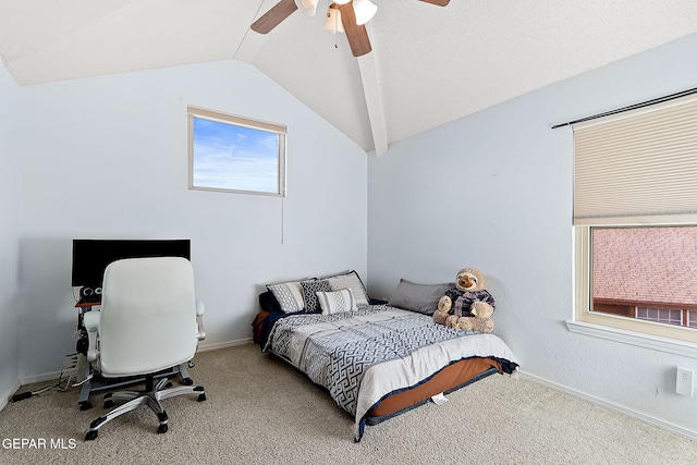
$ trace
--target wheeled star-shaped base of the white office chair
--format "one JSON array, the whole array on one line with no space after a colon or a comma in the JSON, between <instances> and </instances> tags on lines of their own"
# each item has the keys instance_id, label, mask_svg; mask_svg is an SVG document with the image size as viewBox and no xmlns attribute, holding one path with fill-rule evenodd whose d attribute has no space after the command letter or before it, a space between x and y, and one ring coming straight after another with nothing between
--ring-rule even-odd
<instances>
[{"instance_id":1,"label":"wheeled star-shaped base of the white office chair","mask_svg":"<svg viewBox=\"0 0 697 465\"><path fill-rule=\"evenodd\" d=\"M99 435L99 428L117 418L118 416L121 416L126 412L131 412L143 404L150 407L150 409L157 414L157 418L160 423L157 428L157 432L164 433L168 430L168 416L160 401L183 394L198 394L198 402L203 402L206 400L206 390L203 386L172 387L169 378L162 378L157 383L157 386L154 387L152 375L148 375L146 377L145 384L146 386L144 391L117 391L106 394L105 408L109 408L110 406L112 406L113 400L122 400L126 401L126 403L112 408L106 415L102 415L94 420L89 425L89 429L85 435L85 441L91 441L96 439Z\"/></svg>"}]
</instances>

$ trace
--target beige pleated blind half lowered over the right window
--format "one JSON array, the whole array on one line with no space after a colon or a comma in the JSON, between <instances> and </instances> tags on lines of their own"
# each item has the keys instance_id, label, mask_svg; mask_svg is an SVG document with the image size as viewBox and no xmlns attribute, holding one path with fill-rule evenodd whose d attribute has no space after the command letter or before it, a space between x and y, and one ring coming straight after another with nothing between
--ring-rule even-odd
<instances>
[{"instance_id":1,"label":"beige pleated blind half lowered over the right window","mask_svg":"<svg viewBox=\"0 0 697 465\"><path fill-rule=\"evenodd\" d=\"M574 124L574 224L697 223L697 95Z\"/></svg>"}]
</instances>

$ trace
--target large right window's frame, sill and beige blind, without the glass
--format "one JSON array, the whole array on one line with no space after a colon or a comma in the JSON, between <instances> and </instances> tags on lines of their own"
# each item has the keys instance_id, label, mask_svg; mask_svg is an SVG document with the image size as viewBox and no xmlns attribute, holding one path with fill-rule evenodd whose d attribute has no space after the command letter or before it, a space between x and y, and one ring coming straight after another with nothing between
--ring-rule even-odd
<instances>
[{"instance_id":1,"label":"large right window's frame, sill and beige blind, without the glass","mask_svg":"<svg viewBox=\"0 0 697 465\"><path fill-rule=\"evenodd\" d=\"M568 330L696 358L694 328L591 311L590 241L595 227L697 225L697 159L689 156L697 149L697 89L567 124L575 158Z\"/></svg>"}]
</instances>

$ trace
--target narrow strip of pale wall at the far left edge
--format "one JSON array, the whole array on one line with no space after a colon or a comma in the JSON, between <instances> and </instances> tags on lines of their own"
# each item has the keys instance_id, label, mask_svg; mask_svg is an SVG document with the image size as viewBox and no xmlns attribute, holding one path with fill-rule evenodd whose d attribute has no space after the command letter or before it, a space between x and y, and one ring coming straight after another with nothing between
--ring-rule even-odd
<instances>
[{"instance_id":1,"label":"narrow strip of pale wall at the far left edge","mask_svg":"<svg viewBox=\"0 0 697 465\"><path fill-rule=\"evenodd\" d=\"M20 370L17 318L17 244L22 205L21 147L16 135L22 109L19 88L0 64L0 408L14 393Z\"/></svg>"}]
</instances>

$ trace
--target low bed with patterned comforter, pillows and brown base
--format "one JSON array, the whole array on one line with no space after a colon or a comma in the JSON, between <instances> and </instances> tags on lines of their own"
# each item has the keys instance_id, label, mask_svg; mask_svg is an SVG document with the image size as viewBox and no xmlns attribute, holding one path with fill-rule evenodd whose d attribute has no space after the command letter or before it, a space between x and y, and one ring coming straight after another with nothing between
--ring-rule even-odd
<instances>
[{"instance_id":1,"label":"low bed with patterned comforter, pillows and brown base","mask_svg":"<svg viewBox=\"0 0 697 465\"><path fill-rule=\"evenodd\" d=\"M370 299L355 271L268 285L259 295L254 341L352 415L357 442L366 425L517 369L513 353L496 334L432 322L449 285L402 280L389 302Z\"/></svg>"}]
</instances>

